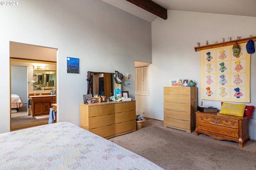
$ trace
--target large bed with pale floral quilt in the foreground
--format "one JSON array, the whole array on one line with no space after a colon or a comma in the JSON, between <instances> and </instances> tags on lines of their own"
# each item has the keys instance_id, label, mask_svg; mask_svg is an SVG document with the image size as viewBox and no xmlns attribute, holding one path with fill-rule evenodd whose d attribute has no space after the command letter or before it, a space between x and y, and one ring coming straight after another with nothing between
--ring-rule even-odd
<instances>
[{"instance_id":1,"label":"large bed with pale floral quilt in the foreground","mask_svg":"<svg viewBox=\"0 0 256 170\"><path fill-rule=\"evenodd\" d=\"M0 169L163 170L69 122L0 134Z\"/></svg>"}]
</instances>

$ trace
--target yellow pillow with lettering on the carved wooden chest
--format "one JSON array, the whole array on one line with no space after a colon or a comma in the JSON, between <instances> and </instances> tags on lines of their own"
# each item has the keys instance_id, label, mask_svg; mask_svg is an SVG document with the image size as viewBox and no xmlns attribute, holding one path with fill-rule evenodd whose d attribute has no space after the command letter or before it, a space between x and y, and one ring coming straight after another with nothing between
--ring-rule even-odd
<instances>
[{"instance_id":1,"label":"yellow pillow with lettering on the carved wooden chest","mask_svg":"<svg viewBox=\"0 0 256 170\"><path fill-rule=\"evenodd\" d=\"M223 103L220 113L226 115L244 116L245 104Z\"/></svg>"}]
</instances>

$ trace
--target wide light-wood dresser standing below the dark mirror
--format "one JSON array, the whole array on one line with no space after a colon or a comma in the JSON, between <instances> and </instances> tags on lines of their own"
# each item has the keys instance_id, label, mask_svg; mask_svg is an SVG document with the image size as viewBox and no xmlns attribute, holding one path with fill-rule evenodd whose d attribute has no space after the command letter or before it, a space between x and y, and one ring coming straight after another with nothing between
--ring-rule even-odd
<instances>
[{"instance_id":1,"label":"wide light-wood dresser standing below the dark mirror","mask_svg":"<svg viewBox=\"0 0 256 170\"><path fill-rule=\"evenodd\" d=\"M80 104L81 127L110 139L136 131L136 102Z\"/></svg>"}]
</instances>

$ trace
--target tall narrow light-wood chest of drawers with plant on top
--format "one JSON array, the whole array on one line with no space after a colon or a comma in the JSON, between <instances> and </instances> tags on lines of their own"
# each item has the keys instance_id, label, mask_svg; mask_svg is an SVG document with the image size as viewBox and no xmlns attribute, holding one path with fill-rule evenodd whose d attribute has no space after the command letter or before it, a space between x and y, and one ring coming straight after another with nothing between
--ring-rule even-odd
<instances>
[{"instance_id":1,"label":"tall narrow light-wood chest of drawers with plant on top","mask_svg":"<svg viewBox=\"0 0 256 170\"><path fill-rule=\"evenodd\" d=\"M164 127L191 133L196 126L197 87L164 87Z\"/></svg>"}]
</instances>

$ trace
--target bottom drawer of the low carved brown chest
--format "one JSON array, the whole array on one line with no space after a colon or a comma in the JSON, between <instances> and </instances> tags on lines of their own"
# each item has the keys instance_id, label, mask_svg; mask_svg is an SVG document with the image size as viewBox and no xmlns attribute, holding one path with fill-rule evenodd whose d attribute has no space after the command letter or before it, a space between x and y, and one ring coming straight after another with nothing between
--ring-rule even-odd
<instances>
[{"instance_id":1,"label":"bottom drawer of the low carved brown chest","mask_svg":"<svg viewBox=\"0 0 256 170\"><path fill-rule=\"evenodd\" d=\"M202 123L202 122L197 122L197 123L198 123L197 127L198 127L199 130L208 131L210 133L216 133L216 134L229 136L229 137L234 137L234 138L239 137L239 130L238 129L223 127L223 126L220 126L220 125Z\"/></svg>"}]
</instances>

